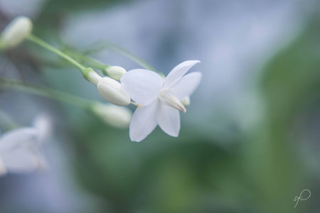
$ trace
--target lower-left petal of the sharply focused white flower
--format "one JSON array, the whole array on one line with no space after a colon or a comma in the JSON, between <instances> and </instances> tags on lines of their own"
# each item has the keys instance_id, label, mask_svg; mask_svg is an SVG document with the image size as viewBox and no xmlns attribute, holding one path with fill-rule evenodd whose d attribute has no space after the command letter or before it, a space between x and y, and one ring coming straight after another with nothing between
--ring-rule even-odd
<instances>
[{"instance_id":1,"label":"lower-left petal of the sharply focused white flower","mask_svg":"<svg viewBox=\"0 0 320 213\"><path fill-rule=\"evenodd\" d=\"M129 135L132 141L142 141L156 128L156 110L158 100L147 107L137 108L131 119Z\"/></svg>"}]
</instances>

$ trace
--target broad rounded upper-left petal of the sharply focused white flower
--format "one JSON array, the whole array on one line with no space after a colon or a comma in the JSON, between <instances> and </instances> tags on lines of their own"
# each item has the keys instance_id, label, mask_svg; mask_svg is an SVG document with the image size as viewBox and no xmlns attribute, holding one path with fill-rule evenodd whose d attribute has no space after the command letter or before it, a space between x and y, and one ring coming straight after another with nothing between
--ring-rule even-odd
<instances>
[{"instance_id":1,"label":"broad rounded upper-left petal of the sharply focused white flower","mask_svg":"<svg viewBox=\"0 0 320 213\"><path fill-rule=\"evenodd\" d=\"M147 106L158 97L162 87L162 80L156 72L137 69L124 73L121 78L121 84L122 90L134 102Z\"/></svg>"}]
</instances>

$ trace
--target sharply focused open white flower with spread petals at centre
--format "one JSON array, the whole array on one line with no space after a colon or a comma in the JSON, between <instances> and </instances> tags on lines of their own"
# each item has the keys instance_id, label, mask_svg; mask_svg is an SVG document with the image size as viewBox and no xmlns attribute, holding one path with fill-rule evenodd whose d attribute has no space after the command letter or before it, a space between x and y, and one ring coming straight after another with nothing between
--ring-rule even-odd
<instances>
[{"instance_id":1,"label":"sharply focused open white flower with spread petals at centre","mask_svg":"<svg viewBox=\"0 0 320 213\"><path fill-rule=\"evenodd\" d=\"M181 100L189 97L201 80L200 72L185 74L198 62L182 62L171 70L165 80L156 72L142 69L130 70L122 76L123 91L142 106L134 111L129 126L132 141L142 141L157 125L170 136L178 136L179 111L186 112Z\"/></svg>"}]
</instances>

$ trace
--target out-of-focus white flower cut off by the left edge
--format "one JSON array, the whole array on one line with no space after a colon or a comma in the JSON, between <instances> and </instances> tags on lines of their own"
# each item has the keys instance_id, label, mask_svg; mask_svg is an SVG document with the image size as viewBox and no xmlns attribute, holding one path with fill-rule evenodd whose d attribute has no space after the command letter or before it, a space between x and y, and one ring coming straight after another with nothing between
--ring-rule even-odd
<instances>
[{"instance_id":1,"label":"out-of-focus white flower cut off by the left edge","mask_svg":"<svg viewBox=\"0 0 320 213\"><path fill-rule=\"evenodd\" d=\"M50 133L47 116L39 116L33 127L23 127L0 136L0 175L27 173L46 168L41 146Z\"/></svg>"}]
</instances>

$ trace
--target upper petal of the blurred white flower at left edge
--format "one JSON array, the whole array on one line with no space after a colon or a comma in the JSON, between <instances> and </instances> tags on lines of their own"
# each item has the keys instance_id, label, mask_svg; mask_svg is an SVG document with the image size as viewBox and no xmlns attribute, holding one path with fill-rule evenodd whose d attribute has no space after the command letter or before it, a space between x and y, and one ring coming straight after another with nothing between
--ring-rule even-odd
<instances>
[{"instance_id":1,"label":"upper petal of the blurred white flower at left edge","mask_svg":"<svg viewBox=\"0 0 320 213\"><path fill-rule=\"evenodd\" d=\"M9 131L1 135L0 155L23 144L37 142L38 130L36 128L20 128Z\"/></svg>"}]
</instances>

